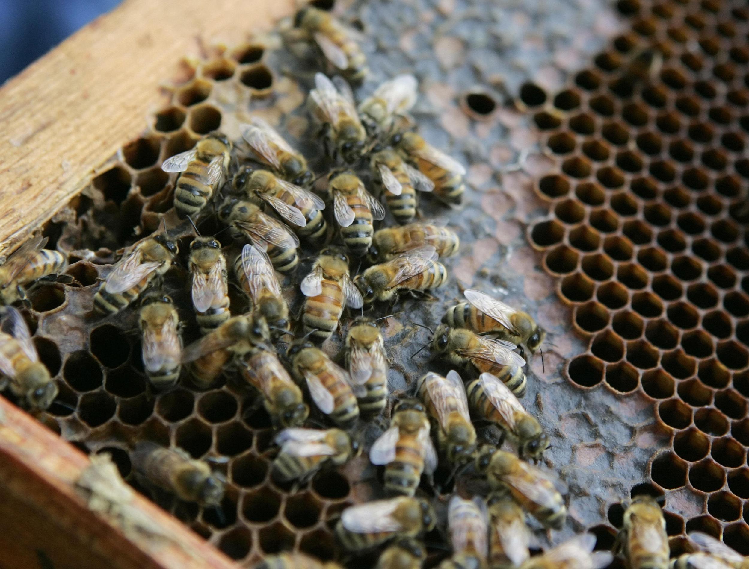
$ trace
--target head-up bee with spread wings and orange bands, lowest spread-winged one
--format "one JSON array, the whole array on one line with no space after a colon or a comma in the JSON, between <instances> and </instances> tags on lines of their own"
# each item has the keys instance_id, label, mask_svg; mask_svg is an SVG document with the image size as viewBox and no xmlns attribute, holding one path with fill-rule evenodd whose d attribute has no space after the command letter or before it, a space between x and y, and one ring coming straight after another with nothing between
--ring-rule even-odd
<instances>
[{"instance_id":1,"label":"head-up bee with spread wings and orange bands, lowest spread-winged one","mask_svg":"<svg viewBox=\"0 0 749 569\"><path fill-rule=\"evenodd\" d=\"M429 438L429 419L417 400L395 405L390 427L369 451L372 464L385 466L385 492L413 496L421 475L437 468L437 451Z\"/></svg>"}]
</instances>

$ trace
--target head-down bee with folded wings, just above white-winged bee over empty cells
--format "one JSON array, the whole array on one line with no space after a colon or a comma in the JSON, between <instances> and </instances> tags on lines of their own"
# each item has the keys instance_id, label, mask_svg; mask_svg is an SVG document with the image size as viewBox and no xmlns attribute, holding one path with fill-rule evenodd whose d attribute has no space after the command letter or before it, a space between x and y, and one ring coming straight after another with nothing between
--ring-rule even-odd
<instances>
[{"instance_id":1,"label":"head-down bee with folded wings, just above white-winged bee over empty cells","mask_svg":"<svg viewBox=\"0 0 749 569\"><path fill-rule=\"evenodd\" d=\"M255 346L240 366L243 377L263 395L263 404L273 425L301 427L309 416L302 390L291 380L276 353Z\"/></svg>"}]
</instances>

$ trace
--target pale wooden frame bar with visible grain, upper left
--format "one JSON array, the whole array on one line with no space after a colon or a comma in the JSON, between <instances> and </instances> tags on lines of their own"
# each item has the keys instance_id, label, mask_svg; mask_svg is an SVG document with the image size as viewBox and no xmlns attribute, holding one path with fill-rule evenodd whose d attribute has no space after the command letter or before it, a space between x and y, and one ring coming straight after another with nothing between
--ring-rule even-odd
<instances>
[{"instance_id":1,"label":"pale wooden frame bar with visible grain, upper left","mask_svg":"<svg viewBox=\"0 0 749 569\"><path fill-rule=\"evenodd\" d=\"M126 0L0 88L0 254L146 126L185 55L270 28L293 0Z\"/></svg>"}]
</instances>

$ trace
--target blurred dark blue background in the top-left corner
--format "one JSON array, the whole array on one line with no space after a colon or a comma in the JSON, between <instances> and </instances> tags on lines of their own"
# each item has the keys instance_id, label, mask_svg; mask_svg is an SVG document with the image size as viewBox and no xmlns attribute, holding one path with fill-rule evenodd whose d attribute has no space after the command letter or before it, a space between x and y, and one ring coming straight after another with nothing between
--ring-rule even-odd
<instances>
[{"instance_id":1,"label":"blurred dark blue background in the top-left corner","mask_svg":"<svg viewBox=\"0 0 749 569\"><path fill-rule=\"evenodd\" d=\"M0 84L121 0L0 0Z\"/></svg>"}]
</instances>

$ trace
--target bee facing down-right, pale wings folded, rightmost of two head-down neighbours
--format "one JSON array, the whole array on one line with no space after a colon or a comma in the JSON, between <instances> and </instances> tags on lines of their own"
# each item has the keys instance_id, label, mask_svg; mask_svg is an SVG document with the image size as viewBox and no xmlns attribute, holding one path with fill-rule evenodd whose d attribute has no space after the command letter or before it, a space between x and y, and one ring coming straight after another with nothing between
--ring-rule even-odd
<instances>
[{"instance_id":1,"label":"bee facing down-right, pale wings folded, rightmost of two head-down neighbours","mask_svg":"<svg viewBox=\"0 0 749 569\"><path fill-rule=\"evenodd\" d=\"M466 391L476 416L502 429L500 446L504 437L509 436L517 442L521 458L530 457L536 461L549 448L551 441L539 422L497 376L481 374L479 379L468 384Z\"/></svg>"}]
</instances>

